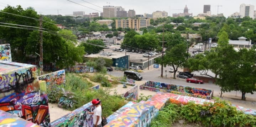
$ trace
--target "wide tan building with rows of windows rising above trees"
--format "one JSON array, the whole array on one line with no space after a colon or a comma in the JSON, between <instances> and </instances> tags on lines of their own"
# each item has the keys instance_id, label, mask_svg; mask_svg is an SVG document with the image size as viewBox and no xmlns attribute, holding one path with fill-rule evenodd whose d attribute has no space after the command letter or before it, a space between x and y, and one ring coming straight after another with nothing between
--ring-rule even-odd
<instances>
[{"instance_id":1,"label":"wide tan building with rows of windows rising above trees","mask_svg":"<svg viewBox=\"0 0 256 127\"><path fill-rule=\"evenodd\" d=\"M139 30L143 27L148 27L150 25L150 19L143 19L143 18L135 18L135 19L116 19L116 28L131 28L134 30Z\"/></svg>"}]
</instances>

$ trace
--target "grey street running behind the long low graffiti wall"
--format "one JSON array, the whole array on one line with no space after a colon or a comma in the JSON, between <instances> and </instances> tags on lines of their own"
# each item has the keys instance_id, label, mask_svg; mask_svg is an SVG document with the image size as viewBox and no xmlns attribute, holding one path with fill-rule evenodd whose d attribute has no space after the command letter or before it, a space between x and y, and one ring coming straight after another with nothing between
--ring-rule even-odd
<instances>
[{"instance_id":1,"label":"grey street running behind the long low graffiti wall","mask_svg":"<svg viewBox=\"0 0 256 127\"><path fill-rule=\"evenodd\" d=\"M165 82L165 83L172 83L175 85L182 85L182 86L189 86L189 87L195 87L195 88L204 88L204 89L208 89L208 90L213 90L213 95L214 97L220 97L220 87L218 85L215 85L214 83L204 83L204 84L196 84L196 83L188 83L186 82L185 79L181 79L181 78L177 78L177 79L173 79L170 77L173 77L173 73L169 73L168 72L168 68L163 68L163 77L161 78L161 67L158 69L154 69L152 71L146 71L141 73L142 77L143 77L143 81L156 81L156 82ZM165 70L167 70L167 73L165 73ZM108 74L116 76L116 77L121 77L124 76L124 72L123 71L111 71L108 72ZM165 78L165 75L167 74L167 78ZM136 82L135 82L136 83ZM242 93L239 91L231 91L231 92L225 92L223 93L223 96L225 97L231 97L231 98L241 98ZM251 100L255 100L256 98L256 94L251 94L251 93L246 93L245 97L247 99L251 99Z\"/></svg>"}]
</instances>

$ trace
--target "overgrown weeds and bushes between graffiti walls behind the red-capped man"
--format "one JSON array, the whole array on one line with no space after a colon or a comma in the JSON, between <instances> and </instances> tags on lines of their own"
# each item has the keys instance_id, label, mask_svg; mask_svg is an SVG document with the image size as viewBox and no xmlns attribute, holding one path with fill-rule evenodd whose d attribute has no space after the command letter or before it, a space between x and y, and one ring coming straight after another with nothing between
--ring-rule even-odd
<instances>
[{"instance_id":1,"label":"overgrown weeds and bushes between graffiti walls behind the red-capped man","mask_svg":"<svg viewBox=\"0 0 256 127\"><path fill-rule=\"evenodd\" d=\"M92 90L92 83L74 74L66 74L66 84L48 88L48 98L51 103L59 103L59 106L68 110L77 109L92 99L99 98L102 102L103 116L107 117L126 104L125 99L121 96L109 95L109 90ZM98 74L93 79L106 79L103 75ZM111 103L109 103L111 102ZM60 105L61 104L61 105ZM71 104L71 106L70 106Z\"/></svg>"}]
</instances>

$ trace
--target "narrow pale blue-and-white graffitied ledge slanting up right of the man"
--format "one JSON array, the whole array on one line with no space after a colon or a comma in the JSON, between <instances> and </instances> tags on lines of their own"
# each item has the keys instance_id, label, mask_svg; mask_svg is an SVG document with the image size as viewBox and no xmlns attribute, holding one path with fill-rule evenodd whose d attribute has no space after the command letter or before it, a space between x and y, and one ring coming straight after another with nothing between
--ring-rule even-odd
<instances>
[{"instance_id":1,"label":"narrow pale blue-and-white graffitied ledge slanting up right of the man","mask_svg":"<svg viewBox=\"0 0 256 127\"><path fill-rule=\"evenodd\" d=\"M109 117L107 117L107 121L110 122L117 118L117 116L121 115L126 109L130 109L132 105L136 104L135 102L128 102L126 105L122 106L120 109L115 111L113 114L111 114Z\"/></svg>"}]
</instances>

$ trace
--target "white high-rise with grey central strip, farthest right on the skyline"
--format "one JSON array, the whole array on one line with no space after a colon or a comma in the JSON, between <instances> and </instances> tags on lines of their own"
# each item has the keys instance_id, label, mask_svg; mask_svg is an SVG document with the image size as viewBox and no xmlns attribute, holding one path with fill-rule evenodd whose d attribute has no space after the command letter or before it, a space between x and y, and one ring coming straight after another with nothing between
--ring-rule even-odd
<instances>
[{"instance_id":1,"label":"white high-rise with grey central strip, farthest right on the skyline","mask_svg":"<svg viewBox=\"0 0 256 127\"><path fill-rule=\"evenodd\" d=\"M254 5L240 5L240 17L243 18L245 16L249 16L250 18L254 18Z\"/></svg>"}]
</instances>

